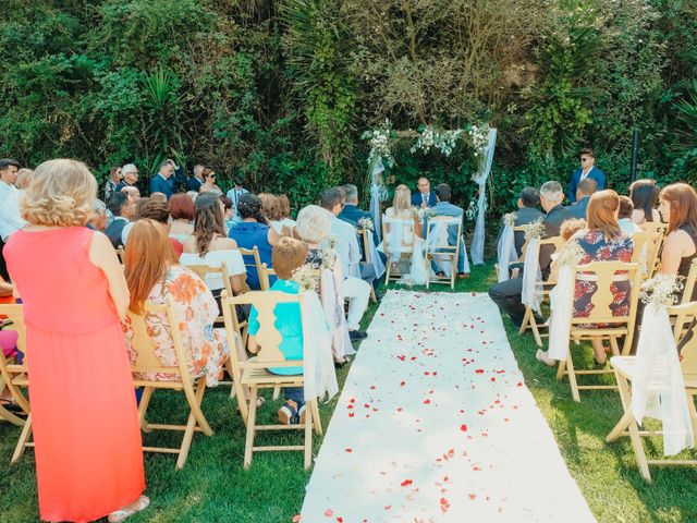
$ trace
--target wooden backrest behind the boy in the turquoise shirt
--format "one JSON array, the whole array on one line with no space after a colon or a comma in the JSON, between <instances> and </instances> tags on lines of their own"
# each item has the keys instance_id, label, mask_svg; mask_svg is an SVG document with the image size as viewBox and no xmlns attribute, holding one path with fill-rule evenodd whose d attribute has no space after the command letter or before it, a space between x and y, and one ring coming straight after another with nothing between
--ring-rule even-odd
<instances>
[{"instance_id":1,"label":"wooden backrest behind the boy in the turquoise shirt","mask_svg":"<svg viewBox=\"0 0 697 523\"><path fill-rule=\"evenodd\" d=\"M257 357L249 362L235 362L233 365L239 367L270 367L270 366L302 366L302 360L293 360L292 365L285 364L285 356L281 352L280 345L283 341L282 335L276 328L276 306L280 303L297 303L301 309L301 319L303 314L303 294L286 294L278 291L249 291L239 296L228 296L222 294L223 317L225 319L225 330L230 342L231 333L239 331L240 321L235 312L235 305L252 305L257 311L257 320L259 321L259 330L255 335L256 342L259 345ZM230 346L234 346L230 345ZM231 357L237 360L234 351L230 351Z\"/></svg>"}]
</instances>

